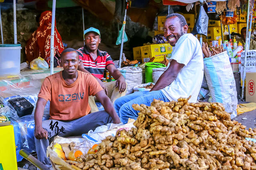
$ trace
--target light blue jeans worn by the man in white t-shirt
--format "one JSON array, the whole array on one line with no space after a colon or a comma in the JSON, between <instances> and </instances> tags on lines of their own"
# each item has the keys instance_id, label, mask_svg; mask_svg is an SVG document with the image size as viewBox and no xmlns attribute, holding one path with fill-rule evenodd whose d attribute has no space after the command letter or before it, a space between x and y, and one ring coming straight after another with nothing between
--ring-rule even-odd
<instances>
[{"instance_id":1,"label":"light blue jeans worn by the man in white t-shirt","mask_svg":"<svg viewBox=\"0 0 256 170\"><path fill-rule=\"evenodd\" d=\"M117 115L120 117L120 121L125 124L129 118L136 120L138 117L139 111L135 111L132 108L132 104L144 104L146 106L150 106L153 99L162 100L164 102L170 101L160 90L150 92L138 91L116 99L114 102L114 108L116 109Z\"/></svg>"}]
</instances>

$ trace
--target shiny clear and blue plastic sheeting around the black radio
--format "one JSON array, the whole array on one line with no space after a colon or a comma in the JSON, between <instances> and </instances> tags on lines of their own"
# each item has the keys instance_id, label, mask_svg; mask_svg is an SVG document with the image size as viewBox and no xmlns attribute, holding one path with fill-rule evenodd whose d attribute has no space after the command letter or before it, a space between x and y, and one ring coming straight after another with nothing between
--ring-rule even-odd
<instances>
[{"instance_id":1,"label":"shiny clear and blue plastic sheeting around the black radio","mask_svg":"<svg viewBox=\"0 0 256 170\"><path fill-rule=\"evenodd\" d=\"M21 149L26 149L28 152L35 152L34 142L34 110L36 108L37 95L40 91L41 83L33 81L26 77L15 77L0 79L0 101L6 107L9 107L10 112L6 113L11 119L11 124L14 127L14 138L16 144L17 161L22 160L19 152ZM9 99L16 97L24 97L33 106L34 110L31 115L18 117L15 109L8 102ZM43 120L49 119L50 101L44 109Z\"/></svg>"}]
</instances>

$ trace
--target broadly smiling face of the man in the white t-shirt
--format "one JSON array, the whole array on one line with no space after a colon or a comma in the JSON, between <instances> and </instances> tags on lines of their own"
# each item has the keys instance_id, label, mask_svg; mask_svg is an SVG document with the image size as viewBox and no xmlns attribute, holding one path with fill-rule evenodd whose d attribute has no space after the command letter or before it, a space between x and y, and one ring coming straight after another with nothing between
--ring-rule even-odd
<instances>
[{"instance_id":1,"label":"broadly smiling face of the man in the white t-shirt","mask_svg":"<svg viewBox=\"0 0 256 170\"><path fill-rule=\"evenodd\" d=\"M181 26L180 19L177 16L167 18L164 23L164 37L172 45L175 46L179 38L188 30L188 25Z\"/></svg>"}]
</instances>

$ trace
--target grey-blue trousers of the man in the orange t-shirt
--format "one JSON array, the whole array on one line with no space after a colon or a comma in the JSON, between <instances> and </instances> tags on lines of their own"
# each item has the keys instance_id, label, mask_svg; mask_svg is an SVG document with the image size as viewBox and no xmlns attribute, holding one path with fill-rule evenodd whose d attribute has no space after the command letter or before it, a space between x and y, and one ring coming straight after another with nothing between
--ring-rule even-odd
<instances>
[{"instance_id":1,"label":"grey-blue trousers of the man in the orange t-shirt","mask_svg":"<svg viewBox=\"0 0 256 170\"><path fill-rule=\"evenodd\" d=\"M48 132L48 139L37 139L34 137L38 160L45 165L51 165L50 160L46 156L46 148L50 144L50 138L57 135L61 137L79 136L87 133L89 130L95 130L96 127L112 122L112 117L106 111L90 113L73 121L58 121L54 119L43 121L42 127Z\"/></svg>"}]
</instances>

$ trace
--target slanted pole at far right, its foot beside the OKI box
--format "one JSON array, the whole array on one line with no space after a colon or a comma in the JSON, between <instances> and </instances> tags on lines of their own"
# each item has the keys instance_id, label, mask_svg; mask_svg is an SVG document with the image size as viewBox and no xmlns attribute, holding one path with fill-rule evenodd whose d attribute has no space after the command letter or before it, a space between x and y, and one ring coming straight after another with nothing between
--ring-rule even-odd
<instances>
[{"instance_id":1,"label":"slanted pole at far right, its foot beside the OKI box","mask_svg":"<svg viewBox=\"0 0 256 170\"><path fill-rule=\"evenodd\" d=\"M250 16L250 0L248 0L248 4L247 4L247 24L246 24L246 28L248 29L249 26L249 16ZM248 42L248 32L246 31L246 41ZM247 63L247 51L248 51L248 43L245 43L245 51L244 51L244 72L243 72L243 77L242 77L242 95L241 95L241 100L244 99L244 80L245 80L245 76L246 76L246 63Z\"/></svg>"}]
</instances>

